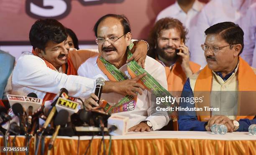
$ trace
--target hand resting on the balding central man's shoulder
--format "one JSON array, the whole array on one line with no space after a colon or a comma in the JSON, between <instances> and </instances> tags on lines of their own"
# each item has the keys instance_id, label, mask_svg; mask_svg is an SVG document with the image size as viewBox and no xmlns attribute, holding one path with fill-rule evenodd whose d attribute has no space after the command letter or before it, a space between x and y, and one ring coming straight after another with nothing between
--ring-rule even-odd
<instances>
[{"instance_id":1,"label":"hand resting on the balding central man's shoulder","mask_svg":"<svg viewBox=\"0 0 256 155\"><path fill-rule=\"evenodd\" d=\"M138 65L144 68L145 60L148 52L148 45L146 44L146 42L143 42L143 41L135 41L133 43L134 43L134 46L131 50L133 55L126 62L128 63L134 59L138 63Z\"/></svg>"}]
</instances>

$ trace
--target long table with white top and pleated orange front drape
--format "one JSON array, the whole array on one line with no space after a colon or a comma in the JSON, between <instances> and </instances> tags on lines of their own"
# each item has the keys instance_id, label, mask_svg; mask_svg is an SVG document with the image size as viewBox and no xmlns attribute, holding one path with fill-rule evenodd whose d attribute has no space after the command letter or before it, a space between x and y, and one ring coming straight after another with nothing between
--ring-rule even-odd
<instances>
[{"instance_id":1,"label":"long table with white top and pleated orange front drape","mask_svg":"<svg viewBox=\"0 0 256 155\"><path fill-rule=\"evenodd\" d=\"M13 138L13 137L12 137ZM47 136L45 154L51 136ZM79 137L79 155L83 155L91 136ZM94 136L89 155L97 155L102 136ZM105 136L106 155L110 136ZM129 132L126 135L111 136L111 155L256 155L256 136L248 132L233 132L215 135L197 131L151 131ZM3 146L3 138L1 146ZM24 146L24 136L17 136L17 145ZM33 155L33 140L30 154ZM76 155L78 137L58 136L51 155ZM103 148L103 146L101 146ZM25 153L23 153L25 154ZM103 155L101 149L101 155Z\"/></svg>"}]
</instances>

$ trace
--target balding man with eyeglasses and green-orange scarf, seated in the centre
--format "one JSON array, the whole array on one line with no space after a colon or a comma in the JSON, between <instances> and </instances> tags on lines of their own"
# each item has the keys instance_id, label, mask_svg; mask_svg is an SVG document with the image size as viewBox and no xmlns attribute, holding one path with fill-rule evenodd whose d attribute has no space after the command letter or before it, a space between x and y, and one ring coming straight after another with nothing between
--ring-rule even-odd
<instances>
[{"instance_id":1,"label":"balding man with eyeglasses and green-orange scarf, seated in the centre","mask_svg":"<svg viewBox=\"0 0 256 155\"><path fill-rule=\"evenodd\" d=\"M150 115L153 109L152 92L168 93L164 67L148 56L145 60L146 71L134 61L126 62L131 57L130 50L133 44L131 43L130 24L124 15L103 16L95 24L94 32L100 56L91 57L84 62L78 69L78 75L92 79L103 77L105 80L123 81L134 79L136 75L144 75L147 72L145 78L139 80L143 85L139 82L134 83L136 88L133 89L133 96L117 93L102 94L101 99L109 103L103 102L100 106L109 113L118 112L118 115L130 117L129 131L143 132L164 127L169 122L168 115ZM148 84L153 87L149 87ZM161 90L156 90L155 87Z\"/></svg>"}]
</instances>

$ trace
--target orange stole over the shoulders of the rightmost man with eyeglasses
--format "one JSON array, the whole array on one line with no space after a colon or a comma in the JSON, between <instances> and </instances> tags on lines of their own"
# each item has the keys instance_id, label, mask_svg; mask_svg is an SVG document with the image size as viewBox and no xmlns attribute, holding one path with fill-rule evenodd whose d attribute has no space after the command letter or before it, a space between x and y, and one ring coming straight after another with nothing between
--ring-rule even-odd
<instances>
[{"instance_id":1,"label":"orange stole over the shoulders of the rightmost man with eyeglasses","mask_svg":"<svg viewBox=\"0 0 256 155\"><path fill-rule=\"evenodd\" d=\"M195 104L195 107L210 107L210 91L212 90L212 70L206 65L202 71L199 73L197 80L195 82L194 96L200 97L200 92L198 91L207 91L207 94L204 93L204 104L199 103ZM256 91L256 75L248 65L248 63L239 57L239 66L238 66L238 91ZM209 92L209 93L208 93ZM243 98L244 99L244 98ZM238 112L241 107L241 95L238 95ZM198 115L198 120L204 120L204 118L210 117L210 112L206 112L207 115ZM237 116L236 120L240 119L253 119L254 116Z\"/></svg>"}]
</instances>

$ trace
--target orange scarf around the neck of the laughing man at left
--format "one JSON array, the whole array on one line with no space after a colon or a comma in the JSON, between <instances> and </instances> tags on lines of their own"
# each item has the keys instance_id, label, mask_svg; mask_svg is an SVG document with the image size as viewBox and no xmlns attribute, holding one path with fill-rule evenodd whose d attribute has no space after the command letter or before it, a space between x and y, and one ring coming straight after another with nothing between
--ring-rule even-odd
<instances>
[{"instance_id":1,"label":"orange scarf around the neck of the laughing man at left","mask_svg":"<svg viewBox=\"0 0 256 155\"><path fill-rule=\"evenodd\" d=\"M35 56L38 56L37 53L32 50L32 53L33 55ZM44 62L46 63L46 66L51 68L52 70L56 70L56 68L50 63L48 62L47 60L45 60L44 58L42 58L44 60ZM66 68L66 64L63 64L61 67L62 67L62 70L63 72L66 72L67 75L77 75L77 70L74 68L74 65L72 63L72 60L70 58L70 52L68 54L68 61L67 61L67 64L68 64L68 68ZM56 70L57 71L57 70ZM46 92L46 95L44 96L44 99L43 99L43 104L44 104L44 101L47 101L47 100L53 100L54 97L56 96L56 94L54 93L51 93L51 92Z\"/></svg>"}]
</instances>

